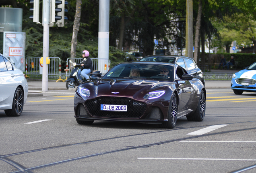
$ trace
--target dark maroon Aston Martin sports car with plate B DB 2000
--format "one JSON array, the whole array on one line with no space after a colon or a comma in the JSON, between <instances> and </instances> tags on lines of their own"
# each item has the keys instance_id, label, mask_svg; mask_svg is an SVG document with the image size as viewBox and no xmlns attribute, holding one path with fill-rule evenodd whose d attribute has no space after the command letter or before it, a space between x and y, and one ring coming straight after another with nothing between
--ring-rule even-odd
<instances>
[{"instance_id":1,"label":"dark maroon Aston Martin sports car with plate B DB 2000","mask_svg":"<svg viewBox=\"0 0 256 173\"><path fill-rule=\"evenodd\" d=\"M203 121L206 91L202 82L177 64L126 62L103 77L80 84L75 92L78 124L95 120L155 123L173 128L177 119Z\"/></svg>"}]
</instances>

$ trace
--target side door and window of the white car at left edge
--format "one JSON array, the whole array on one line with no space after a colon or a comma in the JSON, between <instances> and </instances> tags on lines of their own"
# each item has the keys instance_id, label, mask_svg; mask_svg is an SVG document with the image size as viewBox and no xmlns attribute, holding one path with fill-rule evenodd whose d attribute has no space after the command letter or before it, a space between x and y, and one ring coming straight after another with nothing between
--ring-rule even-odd
<instances>
[{"instance_id":1,"label":"side door and window of the white car at left edge","mask_svg":"<svg viewBox=\"0 0 256 173\"><path fill-rule=\"evenodd\" d=\"M3 56L0 56L0 105L12 104L16 82L13 80L12 64Z\"/></svg>"}]
</instances>

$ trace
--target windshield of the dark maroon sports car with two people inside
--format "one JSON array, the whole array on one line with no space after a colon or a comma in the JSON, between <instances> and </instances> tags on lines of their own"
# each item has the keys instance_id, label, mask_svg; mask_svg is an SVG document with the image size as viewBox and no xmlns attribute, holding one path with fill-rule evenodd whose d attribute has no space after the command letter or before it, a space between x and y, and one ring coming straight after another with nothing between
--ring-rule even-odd
<instances>
[{"instance_id":1,"label":"windshield of the dark maroon sports car with two people inside","mask_svg":"<svg viewBox=\"0 0 256 173\"><path fill-rule=\"evenodd\" d=\"M173 81L173 66L156 64L118 64L103 76L107 78L155 78Z\"/></svg>"}]
</instances>

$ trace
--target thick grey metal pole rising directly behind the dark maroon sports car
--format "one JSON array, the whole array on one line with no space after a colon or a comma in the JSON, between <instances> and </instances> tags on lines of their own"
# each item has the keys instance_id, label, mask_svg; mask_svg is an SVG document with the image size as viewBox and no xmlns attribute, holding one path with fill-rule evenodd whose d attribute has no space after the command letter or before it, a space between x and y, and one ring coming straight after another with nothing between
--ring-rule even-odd
<instances>
[{"instance_id":1,"label":"thick grey metal pole rising directly behind the dark maroon sports car","mask_svg":"<svg viewBox=\"0 0 256 173\"><path fill-rule=\"evenodd\" d=\"M105 74L109 58L109 0L99 0L98 70ZM101 60L104 59L104 60Z\"/></svg>"}]
</instances>

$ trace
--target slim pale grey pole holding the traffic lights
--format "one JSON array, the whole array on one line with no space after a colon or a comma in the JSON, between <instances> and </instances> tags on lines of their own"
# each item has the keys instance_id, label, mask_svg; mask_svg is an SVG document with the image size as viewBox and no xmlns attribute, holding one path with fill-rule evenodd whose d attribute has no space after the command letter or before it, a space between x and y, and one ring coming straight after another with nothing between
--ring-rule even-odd
<instances>
[{"instance_id":1,"label":"slim pale grey pole holding the traffic lights","mask_svg":"<svg viewBox=\"0 0 256 173\"><path fill-rule=\"evenodd\" d=\"M46 58L49 57L49 30L50 30L50 0L43 0L43 77L42 91L48 91L48 64Z\"/></svg>"}]
</instances>

